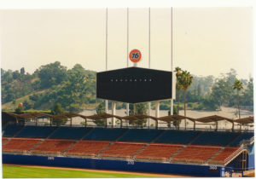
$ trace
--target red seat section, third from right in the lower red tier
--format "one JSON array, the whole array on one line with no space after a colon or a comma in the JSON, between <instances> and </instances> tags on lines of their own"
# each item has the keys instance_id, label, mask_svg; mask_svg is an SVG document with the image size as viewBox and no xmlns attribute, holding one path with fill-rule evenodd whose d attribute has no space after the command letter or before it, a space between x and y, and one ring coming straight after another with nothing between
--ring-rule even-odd
<instances>
[{"instance_id":1,"label":"red seat section, third from right in the lower red tier","mask_svg":"<svg viewBox=\"0 0 256 179\"><path fill-rule=\"evenodd\" d=\"M141 153L137 154L136 159L169 159L182 146L175 144L150 144Z\"/></svg>"}]
</instances>

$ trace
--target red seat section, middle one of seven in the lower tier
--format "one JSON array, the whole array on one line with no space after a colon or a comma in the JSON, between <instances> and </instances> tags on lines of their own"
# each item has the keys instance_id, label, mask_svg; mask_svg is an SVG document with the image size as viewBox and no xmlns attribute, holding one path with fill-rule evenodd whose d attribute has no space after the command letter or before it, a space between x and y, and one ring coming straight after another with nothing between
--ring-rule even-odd
<instances>
[{"instance_id":1,"label":"red seat section, middle one of seven in the lower tier","mask_svg":"<svg viewBox=\"0 0 256 179\"><path fill-rule=\"evenodd\" d=\"M100 156L128 158L133 156L144 146L145 143L117 141L108 147L105 151L103 151Z\"/></svg>"}]
</instances>

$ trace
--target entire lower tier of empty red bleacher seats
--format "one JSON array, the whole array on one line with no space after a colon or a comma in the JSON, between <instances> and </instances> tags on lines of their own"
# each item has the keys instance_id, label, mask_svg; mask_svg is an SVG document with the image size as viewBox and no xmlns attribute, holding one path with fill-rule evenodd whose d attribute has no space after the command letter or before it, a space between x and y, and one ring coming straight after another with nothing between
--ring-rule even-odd
<instances>
[{"instance_id":1,"label":"entire lower tier of empty red bleacher seats","mask_svg":"<svg viewBox=\"0 0 256 179\"><path fill-rule=\"evenodd\" d=\"M6 140L6 139L3 139ZM142 142L116 141L79 141L63 139L35 139L35 138L12 138L3 145L3 152L26 153L64 153L67 155L90 155L99 154L102 157L131 158L136 159L160 159L180 162L201 162L209 160L209 163L224 164L225 160L239 147L206 147L174 144L150 144ZM218 151L220 152L218 153ZM100 153L101 152L101 153ZM136 154L136 155L135 155ZM216 154L216 156L214 156ZM213 156L213 158L212 158ZM212 158L212 159L211 159Z\"/></svg>"}]
</instances>

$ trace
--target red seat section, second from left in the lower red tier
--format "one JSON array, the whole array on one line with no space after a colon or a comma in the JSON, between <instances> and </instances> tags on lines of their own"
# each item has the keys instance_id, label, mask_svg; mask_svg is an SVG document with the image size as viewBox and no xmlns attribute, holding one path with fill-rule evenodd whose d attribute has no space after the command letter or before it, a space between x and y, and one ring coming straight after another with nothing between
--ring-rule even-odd
<instances>
[{"instance_id":1,"label":"red seat section, second from left in the lower red tier","mask_svg":"<svg viewBox=\"0 0 256 179\"><path fill-rule=\"evenodd\" d=\"M38 147L35 147L32 153L62 153L73 142L74 140L47 139Z\"/></svg>"}]
</instances>

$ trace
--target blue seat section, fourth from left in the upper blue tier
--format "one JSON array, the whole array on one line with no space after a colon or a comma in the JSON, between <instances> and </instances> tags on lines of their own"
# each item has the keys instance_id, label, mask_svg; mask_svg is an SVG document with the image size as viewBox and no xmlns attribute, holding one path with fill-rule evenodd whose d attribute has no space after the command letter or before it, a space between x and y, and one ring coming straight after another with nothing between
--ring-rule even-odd
<instances>
[{"instance_id":1,"label":"blue seat section, fourth from left in the upper blue tier","mask_svg":"<svg viewBox=\"0 0 256 179\"><path fill-rule=\"evenodd\" d=\"M95 128L90 131L83 140L96 140L96 141L114 141L118 138L126 129L107 129L107 128Z\"/></svg>"}]
</instances>

